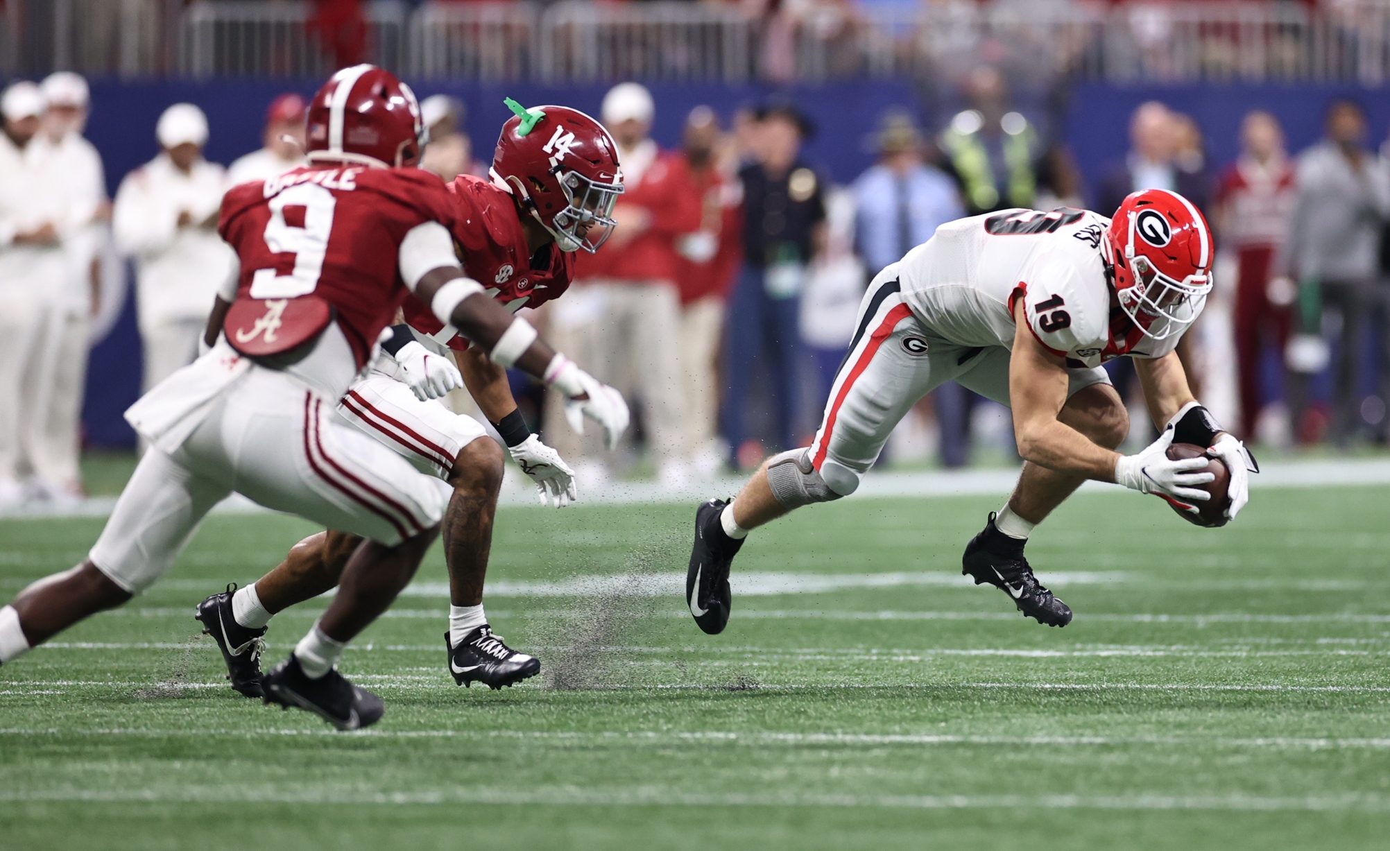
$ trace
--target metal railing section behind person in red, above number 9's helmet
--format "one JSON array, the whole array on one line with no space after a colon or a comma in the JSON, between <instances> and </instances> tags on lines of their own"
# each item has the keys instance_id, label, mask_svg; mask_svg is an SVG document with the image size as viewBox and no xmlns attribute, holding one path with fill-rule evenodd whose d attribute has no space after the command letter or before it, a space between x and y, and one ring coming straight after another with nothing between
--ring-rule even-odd
<instances>
[{"instance_id":1,"label":"metal railing section behind person in red, above number 9's helmet","mask_svg":"<svg viewBox=\"0 0 1390 851\"><path fill-rule=\"evenodd\" d=\"M322 76L334 70L322 33L314 31L313 6L302 0L264 3L217 0L188 7L182 18L179 68L189 76ZM404 70L406 4L366 4L364 60Z\"/></svg>"}]
</instances>

